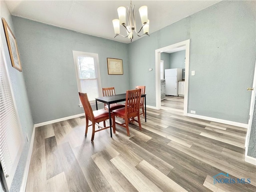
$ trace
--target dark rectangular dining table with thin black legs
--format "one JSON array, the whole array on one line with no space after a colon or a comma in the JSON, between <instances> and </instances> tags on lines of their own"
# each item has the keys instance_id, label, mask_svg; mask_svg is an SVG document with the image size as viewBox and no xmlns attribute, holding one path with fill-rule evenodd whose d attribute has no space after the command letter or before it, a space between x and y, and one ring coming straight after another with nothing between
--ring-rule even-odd
<instances>
[{"instance_id":1,"label":"dark rectangular dining table with thin black legs","mask_svg":"<svg viewBox=\"0 0 256 192\"><path fill-rule=\"evenodd\" d=\"M141 97L144 97L144 110L145 110L145 122L147 122L147 113L146 113L146 94L141 94ZM96 110L98 110L98 101L108 104L108 114L109 114L109 126L110 126L110 137L112 137L112 120L111 120L111 114L110 114L110 104L118 103L126 100L126 93L122 94L116 94L112 96L104 96L104 97L98 97L95 98L96 102Z\"/></svg>"}]
</instances>

